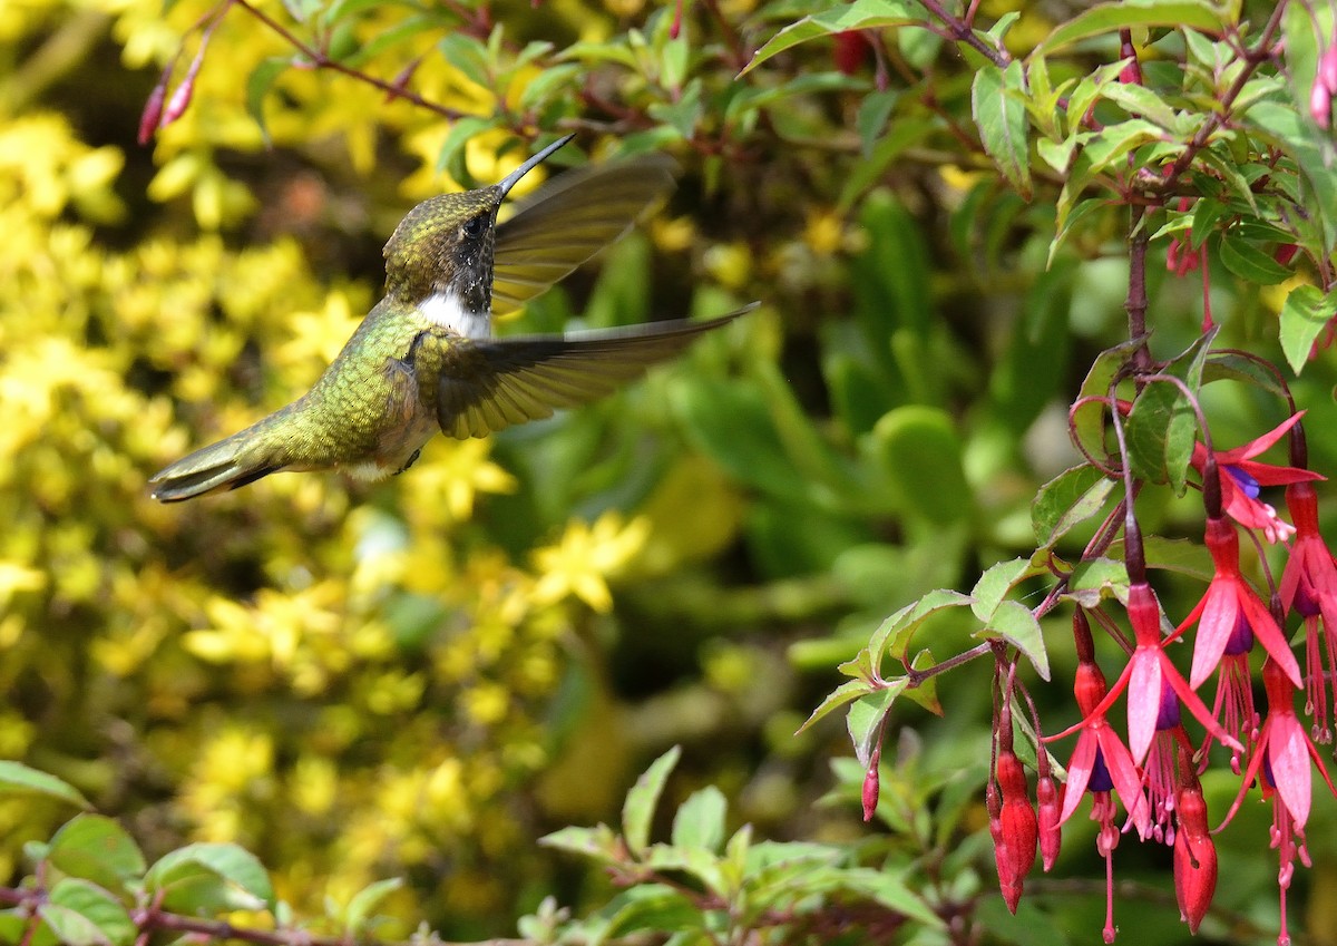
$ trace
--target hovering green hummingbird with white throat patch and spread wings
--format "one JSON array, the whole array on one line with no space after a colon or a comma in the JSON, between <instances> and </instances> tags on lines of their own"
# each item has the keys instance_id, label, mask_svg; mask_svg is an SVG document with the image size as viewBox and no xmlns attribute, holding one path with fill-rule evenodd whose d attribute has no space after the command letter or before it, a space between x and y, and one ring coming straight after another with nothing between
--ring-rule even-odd
<instances>
[{"instance_id":1,"label":"hovering green hummingbird with white throat patch and spread wings","mask_svg":"<svg viewBox=\"0 0 1337 946\"><path fill-rule=\"evenodd\" d=\"M385 245L385 298L316 385L156 473L154 498L237 489L279 470L402 473L437 429L483 437L587 404L755 306L706 322L493 339L493 314L517 309L618 239L673 186L674 163L663 156L583 168L497 223L515 183L572 138L500 183L410 210Z\"/></svg>"}]
</instances>

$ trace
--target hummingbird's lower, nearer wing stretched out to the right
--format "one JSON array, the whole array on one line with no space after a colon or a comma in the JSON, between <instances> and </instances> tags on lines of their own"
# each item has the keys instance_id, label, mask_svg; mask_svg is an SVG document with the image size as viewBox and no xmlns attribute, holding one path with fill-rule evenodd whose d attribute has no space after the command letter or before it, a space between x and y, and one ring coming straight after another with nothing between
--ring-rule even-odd
<instances>
[{"instance_id":1,"label":"hummingbird's lower, nearer wing stretched out to the right","mask_svg":"<svg viewBox=\"0 0 1337 946\"><path fill-rule=\"evenodd\" d=\"M436 417L460 440L551 417L610 394L698 335L757 307L754 302L707 322L651 322L576 335L469 339L443 353Z\"/></svg>"}]
</instances>

